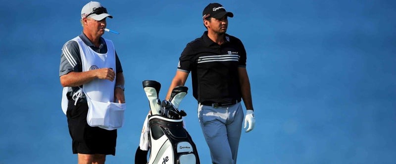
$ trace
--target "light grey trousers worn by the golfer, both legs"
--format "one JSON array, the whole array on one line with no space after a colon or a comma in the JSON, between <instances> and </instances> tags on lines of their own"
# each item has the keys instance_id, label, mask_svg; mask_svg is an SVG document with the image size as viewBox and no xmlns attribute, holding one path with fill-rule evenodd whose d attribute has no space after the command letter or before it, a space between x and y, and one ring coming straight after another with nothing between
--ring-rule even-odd
<instances>
[{"instance_id":1,"label":"light grey trousers worn by the golfer, both legs","mask_svg":"<svg viewBox=\"0 0 396 164\"><path fill-rule=\"evenodd\" d=\"M198 120L213 164L236 164L244 112L241 102L225 107L198 105Z\"/></svg>"}]
</instances>

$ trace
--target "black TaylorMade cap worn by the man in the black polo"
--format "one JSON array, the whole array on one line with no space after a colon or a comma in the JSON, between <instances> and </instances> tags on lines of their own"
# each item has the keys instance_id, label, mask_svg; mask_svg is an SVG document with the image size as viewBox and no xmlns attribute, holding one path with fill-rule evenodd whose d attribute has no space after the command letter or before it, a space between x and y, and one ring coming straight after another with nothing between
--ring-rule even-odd
<instances>
[{"instance_id":1,"label":"black TaylorMade cap worn by the man in the black polo","mask_svg":"<svg viewBox=\"0 0 396 164\"><path fill-rule=\"evenodd\" d=\"M207 19L210 17L220 19L224 15L227 15L228 17L234 17L234 14L232 12L227 12L226 9L223 7L223 5L219 3L209 3L202 12L202 19Z\"/></svg>"}]
</instances>

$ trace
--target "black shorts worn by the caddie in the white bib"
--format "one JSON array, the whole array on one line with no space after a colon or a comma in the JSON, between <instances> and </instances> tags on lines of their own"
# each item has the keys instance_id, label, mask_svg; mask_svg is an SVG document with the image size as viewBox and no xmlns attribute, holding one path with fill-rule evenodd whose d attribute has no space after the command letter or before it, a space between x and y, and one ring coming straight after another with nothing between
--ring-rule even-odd
<instances>
[{"instance_id":1,"label":"black shorts worn by the caddie in the white bib","mask_svg":"<svg viewBox=\"0 0 396 164\"><path fill-rule=\"evenodd\" d=\"M72 138L73 154L104 154L115 156L117 130L107 131L87 123L87 101L74 106L69 100L66 117Z\"/></svg>"}]
</instances>

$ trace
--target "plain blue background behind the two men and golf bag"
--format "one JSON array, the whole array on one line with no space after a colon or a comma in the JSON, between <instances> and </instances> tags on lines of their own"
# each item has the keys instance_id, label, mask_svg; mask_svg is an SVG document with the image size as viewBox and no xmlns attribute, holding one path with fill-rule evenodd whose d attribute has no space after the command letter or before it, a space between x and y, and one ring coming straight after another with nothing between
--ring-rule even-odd
<instances>
[{"instance_id":1,"label":"plain blue background behind the two men and golf bag","mask_svg":"<svg viewBox=\"0 0 396 164\"><path fill-rule=\"evenodd\" d=\"M62 45L79 35L88 0L0 0L0 164L77 163L60 108ZM164 98L213 1L103 0L126 79L125 124L108 164L133 163L148 102ZM219 0L247 50L255 129L238 164L396 163L396 3L392 0ZM187 81L191 89L191 77ZM210 155L190 92L180 107L202 164Z\"/></svg>"}]
</instances>

